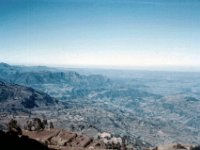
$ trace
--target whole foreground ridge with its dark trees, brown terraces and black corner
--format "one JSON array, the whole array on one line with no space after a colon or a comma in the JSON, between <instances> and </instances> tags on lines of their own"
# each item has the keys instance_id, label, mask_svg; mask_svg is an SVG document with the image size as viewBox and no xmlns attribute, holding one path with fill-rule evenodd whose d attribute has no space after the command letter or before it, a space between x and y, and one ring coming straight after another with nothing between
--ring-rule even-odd
<instances>
[{"instance_id":1,"label":"whole foreground ridge with its dark trees, brown terraces and black corner","mask_svg":"<svg viewBox=\"0 0 200 150\"><path fill-rule=\"evenodd\" d=\"M33 118L26 121L22 130L16 120L11 119L7 124L7 133L0 130L0 142L9 143L18 149L38 150L199 150L199 146L186 144L168 144L157 147L129 145L126 137L114 137L112 134L99 133L96 138L89 137L81 132L71 132L63 129L54 129L53 124L48 126L48 120ZM50 123L51 124L51 123ZM23 144L24 143L24 144ZM29 146L31 146L29 148ZM21 147L21 148L20 148Z\"/></svg>"}]
</instances>

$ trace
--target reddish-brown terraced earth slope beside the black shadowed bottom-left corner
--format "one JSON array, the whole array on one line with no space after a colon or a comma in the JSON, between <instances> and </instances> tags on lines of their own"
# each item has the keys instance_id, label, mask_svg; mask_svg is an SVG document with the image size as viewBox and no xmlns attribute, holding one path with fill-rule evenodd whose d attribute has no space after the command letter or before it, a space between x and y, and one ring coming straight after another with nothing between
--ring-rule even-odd
<instances>
[{"instance_id":1,"label":"reddish-brown terraced earth slope beside the black shadowed bottom-left corner","mask_svg":"<svg viewBox=\"0 0 200 150\"><path fill-rule=\"evenodd\" d=\"M102 142L93 140L86 135L60 129L45 129L41 131L23 130L23 135L48 145L51 149L57 150L105 148Z\"/></svg>"}]
</instances>

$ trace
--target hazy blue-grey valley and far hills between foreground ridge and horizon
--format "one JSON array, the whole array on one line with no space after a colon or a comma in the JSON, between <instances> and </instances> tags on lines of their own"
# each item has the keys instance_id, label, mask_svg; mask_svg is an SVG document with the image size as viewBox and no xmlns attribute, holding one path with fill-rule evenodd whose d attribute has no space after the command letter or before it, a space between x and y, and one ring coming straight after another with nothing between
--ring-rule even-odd
<instances>
[{"instance_id":1,"label":"hazy blue-grey valley and far hills between foreground ridge and horizon","mask_svg":"<svg viewBox=\"0 0 200 150\"><path fill-rule=\"evenodd\" d=\"M3 82L32 87L57 99L59 104L48 98L47 106L41 101L25 112L52 119L59 128L90 136L106 131L151 145L200 140L200 73L101 70L97 75L90 69L81 74L79 69L4 63L0 72ZM12 99L13 94L5 91L1 85L1 113L19 114L20 105L11 109L2 101ZM20 94L16 97L20 99Z\"/></svg>"}]
</instances>

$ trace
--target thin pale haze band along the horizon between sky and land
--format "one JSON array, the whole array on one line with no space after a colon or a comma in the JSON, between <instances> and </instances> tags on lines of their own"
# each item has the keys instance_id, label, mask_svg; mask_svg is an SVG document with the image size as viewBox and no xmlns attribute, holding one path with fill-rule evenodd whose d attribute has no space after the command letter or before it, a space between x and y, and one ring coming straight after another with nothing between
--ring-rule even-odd
<instances>
[{"instance_id":1,"label":"thin pale haze band along the horizon between sky and land","mask_svg":"<svg viewBox=\"0 0 200 150\"><path fill-rule=\"evenodd\" d=\"M194 65L75 65L75 64L48 64L48 63L6 63L8 65L26 67L52 67L60 69L111 69L111 70L146 70L146 71L181 71L200 72L200 66Z\"/></svg>"}]
</instances>

